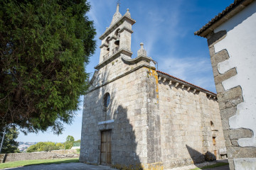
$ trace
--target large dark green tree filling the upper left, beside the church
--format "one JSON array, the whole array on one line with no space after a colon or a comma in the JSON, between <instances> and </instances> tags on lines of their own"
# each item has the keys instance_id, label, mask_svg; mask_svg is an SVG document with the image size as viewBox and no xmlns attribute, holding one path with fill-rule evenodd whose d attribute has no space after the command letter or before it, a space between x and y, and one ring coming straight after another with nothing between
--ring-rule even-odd
<instances>
[{"instance_id":1,"label":"large dark green tree filling the upper left, beside the church","mask_svg":"<svg viewBox=\"0 0 256 170\"><path fill-rule=\"evenodd\" d=\"M0 128L23 132L71 123L95 50L86 0L0 1Z\"/></svg>"}]
</instances>

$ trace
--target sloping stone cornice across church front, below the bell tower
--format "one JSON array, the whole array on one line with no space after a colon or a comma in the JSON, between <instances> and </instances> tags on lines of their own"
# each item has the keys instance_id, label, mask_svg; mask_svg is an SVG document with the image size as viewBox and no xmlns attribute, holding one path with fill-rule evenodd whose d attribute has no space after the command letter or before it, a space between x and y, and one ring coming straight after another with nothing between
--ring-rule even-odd
<instances>
[{"instance_id":1,"label":"sloping stone cornice across church front, below the bell tower","mask_svg":"<svg viewBox=\"0 0 256 170\"><path fill-rule=\"evenodd\" d=\"M141 65L139 65L138 67L135 67L134 69L131 69L131 70L129 70L128 72L125 72L124 74L121 74L121 75L119 75L118 77L115 77L114 79L112 79L112 80L110 80L110 81L107 81L107 82L104 83L104 84L95 86L94 89L91 89L90 91L87 91L86 94L89 94L90 92L95 91L96 89L99 89L99 88L102 87L102 86L105 86L105 85L107 85L107 84L110 84L110 83L112 83L113 81L116 81L117 79L120 79L120 78L122 78L122 77L124 77L124 76L126 76L126 75L128 75L128 74L131 74L132 72L134 72L134 71L136 71L137 69L140 69L140 68L142 68L142 67L146 67L146 68L150 68L150 69L155 69L155 67L151 67L149 64L141 64ZM94 74L94 77L95 77L95 74ZM94 77L92 77L92 79L95 79ZM91 83L91 82L92 82L92 80L90 80L90 83Z\"/></svg>"}]
</instances>

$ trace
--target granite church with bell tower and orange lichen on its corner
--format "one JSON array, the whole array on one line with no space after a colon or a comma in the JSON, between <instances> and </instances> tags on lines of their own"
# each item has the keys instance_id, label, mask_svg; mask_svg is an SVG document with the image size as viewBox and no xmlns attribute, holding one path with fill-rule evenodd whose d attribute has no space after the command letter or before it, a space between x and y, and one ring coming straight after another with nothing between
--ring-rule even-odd
<instances>
[{"instance_id":1,"label":"granite church with bell tower and orange lichen on its corner","mask_svg":"<svg viewBox=\"0 0 256 170\"><path fill-rule=\"evenodd\" d=\"M80 162L169 169L225 157L216 94L156 70L143 43L132 57L129 9L100 36L84 99Z\"/></svg>"}]
</instances>

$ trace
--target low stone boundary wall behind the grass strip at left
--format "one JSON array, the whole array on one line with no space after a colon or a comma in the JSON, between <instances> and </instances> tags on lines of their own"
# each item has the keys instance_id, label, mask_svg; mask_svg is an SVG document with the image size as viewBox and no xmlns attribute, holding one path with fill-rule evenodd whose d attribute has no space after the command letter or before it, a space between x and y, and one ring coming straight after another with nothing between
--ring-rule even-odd
<instances>
[{"instance_id":1,"label":"low stone boundary wall behind the grass strip at left","mask_svg":"<svg viewBox=\"0 0 256 170\"><path fill-rule=\"evenodd\" d=\"M0 163L33 159L79 158L79 154L56 154L53 152L0 154Z\"/></svg>"}]
</instances>

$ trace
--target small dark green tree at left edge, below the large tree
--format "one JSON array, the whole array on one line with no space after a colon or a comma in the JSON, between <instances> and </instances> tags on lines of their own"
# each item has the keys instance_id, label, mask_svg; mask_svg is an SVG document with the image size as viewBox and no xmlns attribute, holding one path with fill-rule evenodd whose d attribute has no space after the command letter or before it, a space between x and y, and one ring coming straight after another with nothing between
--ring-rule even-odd
<instances>
[{"instance_id":1,"label":"small dark green tree at left edge, below the large tree","mask_svg":"<svg viewBox=\"0 0 256 170\"><path fill-rule=\"evenodd\" d=\"M4 130L1 130L0 142L2 141L3 134L4 134ZM1 154L18 153L19 152L18 142L15 141L17 137L18 137L18 131L16 130L16 128L6 129L6 134L4 137Z\"/></svg>"}]
</instances>

